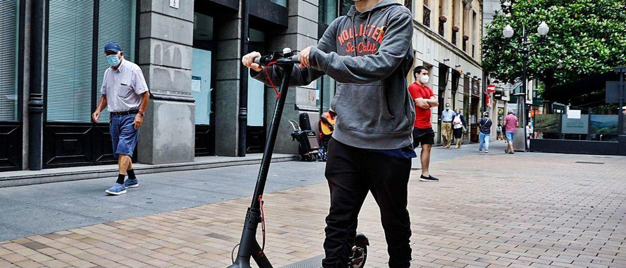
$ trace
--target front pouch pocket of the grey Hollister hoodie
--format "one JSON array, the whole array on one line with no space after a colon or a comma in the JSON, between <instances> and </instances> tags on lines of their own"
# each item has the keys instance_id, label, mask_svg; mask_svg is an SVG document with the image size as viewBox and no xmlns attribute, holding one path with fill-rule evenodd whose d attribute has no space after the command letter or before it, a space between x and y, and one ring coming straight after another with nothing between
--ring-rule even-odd
<instances>
[{"instance_id":1,"label":"front pouch pocket of the grey Hollister hoodie","mask_svg":"<svg viewBox=\"0 0 626 268\"><path fill-rule=\"evenodd\" d=\"M339 84L331 107L337 112L337 124L374 133L394 130L395 116L389 111L384 83L365 85Z\"/></svg>"}]
</instances>

